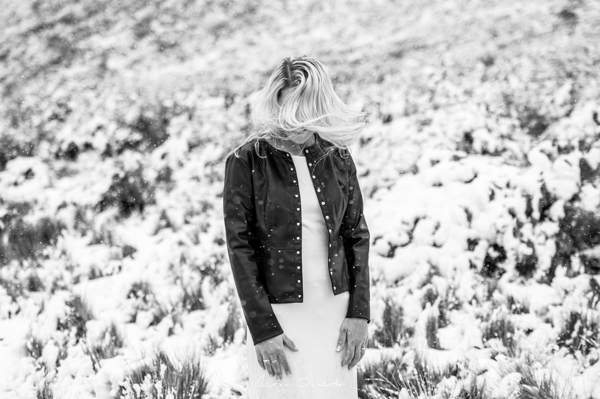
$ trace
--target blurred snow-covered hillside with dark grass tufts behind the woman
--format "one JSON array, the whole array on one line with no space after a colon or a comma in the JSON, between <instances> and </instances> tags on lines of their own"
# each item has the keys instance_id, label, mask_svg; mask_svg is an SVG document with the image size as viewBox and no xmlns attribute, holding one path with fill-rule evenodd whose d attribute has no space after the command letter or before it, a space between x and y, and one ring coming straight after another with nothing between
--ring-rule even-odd
<instances>
[{"instance_id":1,"label":"blurred snow-covered hillside with dark grass tufts behind the woman","mask_svg":"<svg viewBox=\"0 0 600 399\"><path fill-rule=\"evenodd\" d=\"M600 398L598 1L0 5L0 397L247 397L223 161L308 55L370 111L360 397Z\"/></svg>"}]
</instances>

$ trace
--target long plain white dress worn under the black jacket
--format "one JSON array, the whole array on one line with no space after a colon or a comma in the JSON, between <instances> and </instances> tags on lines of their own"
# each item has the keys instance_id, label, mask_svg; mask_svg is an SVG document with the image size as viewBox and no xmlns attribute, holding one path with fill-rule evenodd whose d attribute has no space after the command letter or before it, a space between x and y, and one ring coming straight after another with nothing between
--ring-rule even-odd
<instances>
[{"instance_id":1,"label":"long plain white dress worn under the black jacket","mask_svg":"<svg viewBox=\"0 0 600 399\"><path fill-rule=\"evenodd\" d=\"M246 328L249 399L358 399L356 366L341 367L347 344L335 350L350 293L334 295L328 271L329 233L323 220L305 157L292 156L302 204L302 281L304 302L271 304L281 328L298 352L284 346L291 376L280 365L281 380L269 376L257 361Z\"/></svg>"}]
</instances>

